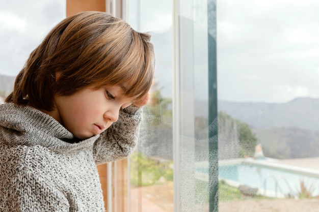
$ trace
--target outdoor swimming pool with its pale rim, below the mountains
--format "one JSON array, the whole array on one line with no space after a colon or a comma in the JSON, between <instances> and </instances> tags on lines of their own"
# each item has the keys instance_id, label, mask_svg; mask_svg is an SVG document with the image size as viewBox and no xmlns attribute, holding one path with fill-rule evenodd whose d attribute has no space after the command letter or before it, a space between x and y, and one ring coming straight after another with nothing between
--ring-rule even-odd
<instances>
[{"instance_id":1,"label":"outdoor swimming pool with its pale rim, below the mountains","mask_svg":"<svg viewBox=\"0 0 319 212\"><path fill-rule=\"evenodd\" d=\"M202 166L203 167L203 166ZM208 173L207 169L197 167L199 173ZM282 166L267 161L240 160L220 163L219 179L233 186L247 185L258 188L258 193L265 196L298 196L301 182L310 189L312 196L319 195L319 173L296 167Z\"/></svg>"}]
</instances>

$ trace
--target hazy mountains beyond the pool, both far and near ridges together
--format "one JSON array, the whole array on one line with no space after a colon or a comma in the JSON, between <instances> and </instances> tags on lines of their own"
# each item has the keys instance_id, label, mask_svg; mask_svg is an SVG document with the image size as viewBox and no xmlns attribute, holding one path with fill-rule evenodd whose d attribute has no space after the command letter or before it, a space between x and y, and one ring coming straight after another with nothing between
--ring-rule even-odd
<instances>
[{"instance_id":1,"label":"hazy mountains beyond the pool, both far and near ridges together","mask_svg":"<svg viewBox=\"0 0 319 212\"><path fill-rule=\"evenodd\" d=\"M319 99L308 97L286 103L218 102L219 111L250 125L266 157L277 159L319 156L317 108Z\"/></svg>"}]
</instances>

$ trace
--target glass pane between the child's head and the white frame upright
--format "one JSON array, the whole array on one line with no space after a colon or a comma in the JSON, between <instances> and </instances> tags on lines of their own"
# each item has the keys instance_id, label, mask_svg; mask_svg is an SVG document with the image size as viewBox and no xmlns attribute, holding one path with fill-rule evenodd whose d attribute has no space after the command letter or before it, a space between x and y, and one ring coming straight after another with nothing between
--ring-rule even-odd
<instances>
[{"instance_id":1,"label":"glass pane between the child's head and the white frame upright","mask_svg":"<svg viewBox=\"0 0 319 212\"><path fill-rule=\"evenodd\" d=\"M138 148L130 156L130 205L134 211L174 211L172 146L172 2L130 1L128 22L150 32L155 73Z\"/></svg>"}]
</instances>

